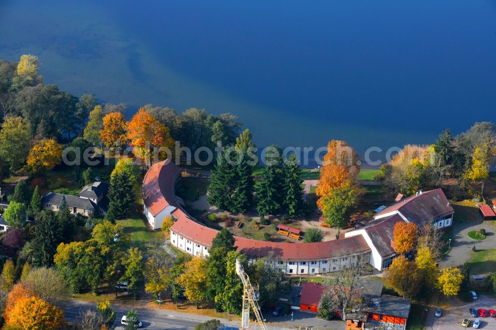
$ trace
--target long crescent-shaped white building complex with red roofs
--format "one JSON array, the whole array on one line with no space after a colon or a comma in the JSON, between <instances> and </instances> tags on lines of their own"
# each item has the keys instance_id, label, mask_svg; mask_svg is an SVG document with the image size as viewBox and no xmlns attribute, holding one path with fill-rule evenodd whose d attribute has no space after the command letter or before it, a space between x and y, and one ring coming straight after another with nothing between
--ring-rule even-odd
<instances>
[{"instance_id":1,"label":"long crescent-shaped white building complex with red roofs","mask_svg":"<svg viewBox=\"0 0 496 330\"><path fill-rule=\"evenodd\" d=\"M170 161L156 163L147 171L142 187L144 214L154 229L159 229L164 219L171 216L174 220L169 229L171 244L193 256L206 257L218 230L205 226L183 209L184 202L175 193L180 177L181 168ZM417 201L409 205L415 200ZM247 255L250 262L272 256L279 271L287 275L334 272L343 267L354 266L359 255L370 258L371 265L380 271L388 267L383 267L383 259L395 255L394 249L390 248L391 228L395 221L414 221L420 224L444 217L443 223L451 224L451 220L447 224L446 219L452 218L453 209L440 189L412 196L398 203L378 213L365 229L350 231L342 239L318 243L286 243L235 236L235 246L238 251Z\"/></svg>"}]
</instances>

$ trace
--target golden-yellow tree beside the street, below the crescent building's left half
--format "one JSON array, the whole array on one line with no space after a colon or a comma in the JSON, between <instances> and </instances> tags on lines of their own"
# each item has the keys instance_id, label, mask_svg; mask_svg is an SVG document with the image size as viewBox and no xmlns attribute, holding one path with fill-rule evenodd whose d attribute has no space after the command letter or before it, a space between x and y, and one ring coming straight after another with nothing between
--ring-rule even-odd
<instances>
[{"instance_id":1,"label":"golden-yellow tree beside the street, below the crescent building's left half","mask_svg":"<svg viewBox=\"0 0 496 330\"><path fill-rule=\"evenodd\" d=\"M178 277L178 283L185 287L185 295L194 302L196 308L205 299L207 288L206 270L207 261L202 258L193 257L186 264L185 272Z\"/></svg>"}]
</instances>

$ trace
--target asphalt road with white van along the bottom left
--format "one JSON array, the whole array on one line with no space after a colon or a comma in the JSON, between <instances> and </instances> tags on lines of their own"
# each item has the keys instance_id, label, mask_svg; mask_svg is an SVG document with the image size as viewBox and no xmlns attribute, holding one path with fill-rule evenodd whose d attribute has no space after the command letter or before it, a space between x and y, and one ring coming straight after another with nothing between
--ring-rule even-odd
<instances>
[{"instance_id":1,"label":"asphalt road with white van along the bottom left","mask_svg":"<svg viewBox=\"0 0 496 330\"><path fill-rule=\"evenodd\" d=\"M80 321L80 313L86 309L95 309L95 304L85 303L80 301L66 301L60 304L62 308L65 319L72 323L78 323ZM128 308L121 306L112 306L116 311L116 329L121 329L121 318L126 315L129 311ZM177 329L177 330L191 330L196 326L199 321L187 320L181 317L175 317L172 315L167 315L166 312L161 312L157 310L147 310L147 309L136 309L138 313L138 319L143 324L141 329L150 330L165 330L165 329Z\"/></svg>"}]
</instances>

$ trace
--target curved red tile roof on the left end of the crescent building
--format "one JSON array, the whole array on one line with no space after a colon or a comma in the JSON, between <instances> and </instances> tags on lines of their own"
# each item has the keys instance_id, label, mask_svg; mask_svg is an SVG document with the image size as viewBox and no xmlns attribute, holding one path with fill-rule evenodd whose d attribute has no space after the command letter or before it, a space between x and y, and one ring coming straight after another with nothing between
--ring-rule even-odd
<instances>
[{"instance_id":1,"label":"curved red tile roof on the left end of the crescent building","mask_svg":"<svg viewBox=\"0 0 496 330\"><path fill-rule=\"evenodd\" d=\"M169 160L155 163L143 178L143 203L152 216L156 216L169 205L179 207L175 199L176 180L181 168Z\"/></svg>"}]
</instances>

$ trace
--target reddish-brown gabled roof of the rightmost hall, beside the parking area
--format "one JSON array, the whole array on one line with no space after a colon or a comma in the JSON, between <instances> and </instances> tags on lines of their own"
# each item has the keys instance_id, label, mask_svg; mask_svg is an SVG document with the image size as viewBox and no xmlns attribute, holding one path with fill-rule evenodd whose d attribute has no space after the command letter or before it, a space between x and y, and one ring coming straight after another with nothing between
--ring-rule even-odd
<instances>
[{"instance_id":1,"label":"reddish-brown gabled roof of the rightmost hall, beside the parking area","mask_svg":"<svg viewBox=\"0 0 496 330\"><path fill-rule=\"evenodd\" d=\"M454 213L440 188L403 198L377 213L374 218L393 211L399 211L406 219L417 225L423 225L427 221Z\"/></svg>"}]
</instances>

